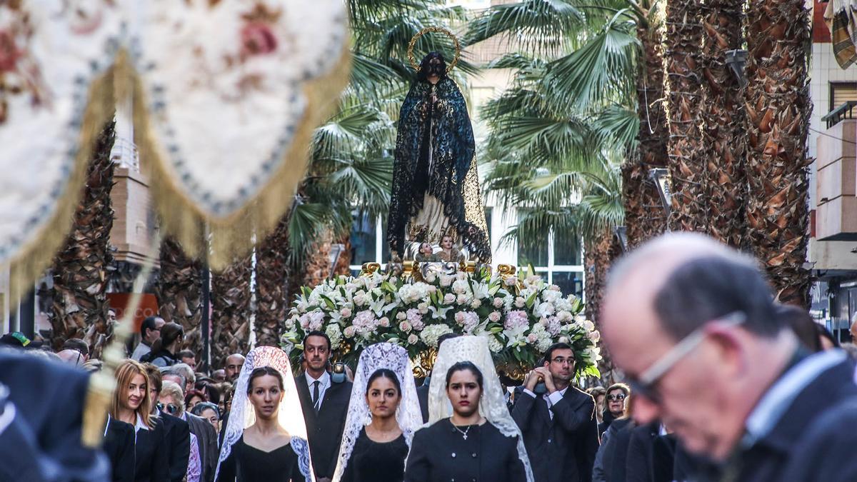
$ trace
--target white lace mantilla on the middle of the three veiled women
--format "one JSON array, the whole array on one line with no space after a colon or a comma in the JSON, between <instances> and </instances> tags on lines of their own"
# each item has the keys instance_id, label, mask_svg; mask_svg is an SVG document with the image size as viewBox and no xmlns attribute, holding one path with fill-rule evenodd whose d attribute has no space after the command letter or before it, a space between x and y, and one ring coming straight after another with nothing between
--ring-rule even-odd
<instances>
[{"instance_id":1,"label":"white lace mantilla on the middle of the three veiled women","mask_svg":"<svg viewBox=\"0 0 857 482\"><path fill-rule=\"evenodd\" d=\"M420 404L417 400L417 385L414 383L414 371L408 352L405 348L393 343L376 343L368 346L360 354L360 361L357 363L357 371L354 374L351 402L345 418L345 431L342 434L342 444L339 446L339 461L336 464L336 472L333 474L333 482L339 482L339 479L342 479L360 431L372 421L369 404L366 402L366 385L369 383L369 377L382 368L393 371L396 377L399 377L402 400L396 410L396 420L405 435L408 447L411 447L414 432L423 425L423 414L420 412Z\"/></svg>"}]
</instances>

